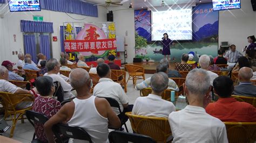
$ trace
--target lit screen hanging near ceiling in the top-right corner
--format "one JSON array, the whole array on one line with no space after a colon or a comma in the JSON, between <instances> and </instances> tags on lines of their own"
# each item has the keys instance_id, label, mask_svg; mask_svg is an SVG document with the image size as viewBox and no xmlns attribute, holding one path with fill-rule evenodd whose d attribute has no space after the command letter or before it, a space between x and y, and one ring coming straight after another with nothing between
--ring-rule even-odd
<instances>
[{"instance_id":1,"label":"lit screen hanging near ceiling in the top-right corner","mask_svg":"<svg viewBox=\"0 0 256 143\"><path fill-rule=\"evenodd\" d=\"M213 11L240 9L240 0L212 0Z\"/></svg>"}]
</instances>

